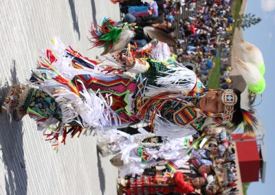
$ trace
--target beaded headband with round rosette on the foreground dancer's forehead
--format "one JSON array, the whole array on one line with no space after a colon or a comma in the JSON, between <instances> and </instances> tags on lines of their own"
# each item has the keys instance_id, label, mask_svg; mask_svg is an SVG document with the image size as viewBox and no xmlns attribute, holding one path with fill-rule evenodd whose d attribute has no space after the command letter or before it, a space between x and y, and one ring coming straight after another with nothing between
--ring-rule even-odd
<instances>
[{"instance_id":1,"label":"beaded headband with round rosette on the foreground dancer's forehead","mask_svg":"<svg viewBox=\"0 0 275 195\"><path fill-rule=\"evenodd\" d=\"M221 101L224 104L223 121L231 121L234 113L234 105L238 101L236 93L232 89L223 90Z\"/></svg>"}]
</instances>

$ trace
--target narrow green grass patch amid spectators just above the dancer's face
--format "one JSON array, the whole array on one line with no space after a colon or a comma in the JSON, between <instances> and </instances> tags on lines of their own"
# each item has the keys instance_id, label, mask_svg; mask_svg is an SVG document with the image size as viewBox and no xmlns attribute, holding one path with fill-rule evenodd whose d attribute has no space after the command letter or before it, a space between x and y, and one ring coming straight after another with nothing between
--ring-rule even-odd
<instances>
[{"instance_id":1,"label":"narrow green grass patch amid spectators just above the dancer's face","mask_svg":"<svg viewBox=\"0 0 275 195\"><path fill-rule=\"evenodd\" d=\"M219 61L220 51L221 49L219 49L219 54L217 55L217 57L214 58L215 67L210 71L208 76L207 87L210 89L219 89L219 84L220 84L219 77L221 76L221 73L219 71L220 70L220 61Z\"/></svg>"}]
</instances>

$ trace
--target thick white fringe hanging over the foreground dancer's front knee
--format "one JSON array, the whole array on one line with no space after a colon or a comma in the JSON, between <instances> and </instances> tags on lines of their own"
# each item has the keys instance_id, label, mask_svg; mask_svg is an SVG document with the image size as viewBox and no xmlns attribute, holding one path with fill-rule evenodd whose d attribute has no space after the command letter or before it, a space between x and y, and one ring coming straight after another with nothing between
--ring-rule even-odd
<instances>
[{"instance_id":1,"label":"thick white fringe hanging over the foreground dancer's front knee","mask_svg":"<svg viewBox=\"0 0 275 195\"><path fill-rule=\"evenodd\" d=\"M82 81L78 80L78 82L83 87L83 91L80 91L82 97L78 97L67 85L52 79L40 81L36 83L36 86L48 93L58 103L64 124L77 122L84 128L96 128L96 130L102 130L104 126L120 126L120 117L110 107L111 97L107 95L107 98L104 98L99 91L95 93L92 90L87 90ZM114 117L113 120L111 116Z\"/></svg>"}]
</instances>

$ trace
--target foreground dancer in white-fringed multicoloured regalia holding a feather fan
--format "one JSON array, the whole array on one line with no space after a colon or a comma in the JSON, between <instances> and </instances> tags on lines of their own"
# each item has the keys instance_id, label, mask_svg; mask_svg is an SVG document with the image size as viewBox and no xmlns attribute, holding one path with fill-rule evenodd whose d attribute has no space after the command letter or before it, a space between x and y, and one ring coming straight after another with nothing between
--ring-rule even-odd
<instances>
[{"instance_id":1,"label":"foreground dancer in white-fringed multicoloured regalia holding a feather fan","mask_svg":"<svg viewBox=\"0 0 275 195\"><path fill-rule=\"evenodd\" d=\"M211 118L231 129L243 122L245 132L254 133L257 120L250 93L241 98L237 90L207 89L185 67L122 54L133 32L110 19L92 27L91 35L94 47L104 47L103 54L108 54L104 60L90 60L54 40L56 54L47 49L32 82L11 88L3 113L15 109L20 117L34 117L39 129L50 130L45 135L56 149L69 133L103 133L140 121L156 135L171 138L193 135Z\"/></svg>"}]
</instances>

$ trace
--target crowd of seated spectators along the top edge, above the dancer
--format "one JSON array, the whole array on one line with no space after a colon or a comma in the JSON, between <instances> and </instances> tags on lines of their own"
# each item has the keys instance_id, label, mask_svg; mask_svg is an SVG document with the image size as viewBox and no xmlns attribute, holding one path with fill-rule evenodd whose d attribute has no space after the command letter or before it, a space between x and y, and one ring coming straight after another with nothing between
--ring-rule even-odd
<instances>
[{"instance_id":1,"label":"crowd of seated spectators along the top edge, above the dancer","mask_svg":"<svg viewBox=\"0 0 275 195\"><path fill-rule=\"evenodd\" d=\"M177 25L177 46L170 47L169 54L164 55L173 56L177 62L195 71L203 84L207 84L209 71L215 65L214 57L219 56L221 64L230 61L234 22L230 3L230 0L120 0L120 9L123 13L122 21L131 23L135 31L131 41L133 49L147 49L147 44L154 41L144 34L144 27L155 27L167 34L167 37L175 38ZM183 12L188 12L188 17L179 19ZM221 71L222 89L230 87L230 71L230 67Z\"/></svg>"}]
</instances>

